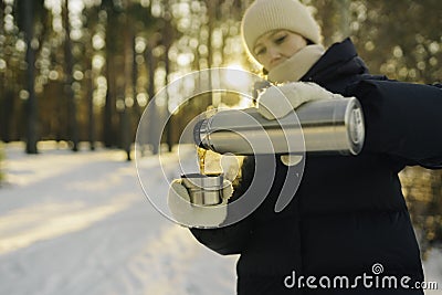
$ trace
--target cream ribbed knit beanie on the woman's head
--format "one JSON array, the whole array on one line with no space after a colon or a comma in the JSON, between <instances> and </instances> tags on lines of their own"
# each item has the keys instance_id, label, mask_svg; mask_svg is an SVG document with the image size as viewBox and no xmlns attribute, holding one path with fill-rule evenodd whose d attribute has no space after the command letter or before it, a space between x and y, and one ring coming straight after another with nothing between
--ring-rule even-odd
<instances>
[{"instance_id":1,"label":"cream ribbed knit beanie on the woman's head","mask_svg":"<svg viewBox=\"0 0 442 295\"><path fill-rule=\"evenodd\" d=\"M255 0L244 13L241 35L249 54L256 61L253 46L256 40L273 30L290 30L314 44L320 44L319 25L298 0Z\"/></svg>"}]
</instances>

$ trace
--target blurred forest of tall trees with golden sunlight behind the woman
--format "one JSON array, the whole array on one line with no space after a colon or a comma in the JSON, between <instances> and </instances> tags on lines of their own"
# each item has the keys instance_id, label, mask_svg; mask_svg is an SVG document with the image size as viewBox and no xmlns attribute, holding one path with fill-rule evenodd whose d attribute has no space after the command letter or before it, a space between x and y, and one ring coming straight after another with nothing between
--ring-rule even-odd
<instances>
[{"instance_id":1,"label":"blurred forest of tall trees with golden sunlight behind the woman","mask_svg":"<svg viewBox=\"0 0 442 295\"><path fill-rule=\"evenodd\" d=\"M38 154L41 140L73 152L87 143L91 150L122 149L130 160L140 116L165 85L210 67L260 73L240 38L241 15L251 2L1 0L0 140L23 141L27 154ZM441 82L440 0L303 2L322 24L324 44L351 36L371 73ZM149 114L152 134L155 122L171 115L161 146L150 146L152 155L172 149L188 118L209 106L238 104L235 96L209 95L181 104L186 87L158 99ZM407 168L401 178L425 255L442 242L442 171Z\"/></svg>"}]
</instances>

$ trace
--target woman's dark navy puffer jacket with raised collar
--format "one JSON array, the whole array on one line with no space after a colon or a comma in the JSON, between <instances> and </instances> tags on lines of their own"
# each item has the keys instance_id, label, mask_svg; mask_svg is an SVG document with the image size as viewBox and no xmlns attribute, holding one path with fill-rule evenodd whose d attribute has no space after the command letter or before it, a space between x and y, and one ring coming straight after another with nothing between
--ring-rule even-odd
<instances>
[{"instance_id":1,"label":"woman's dark navy puffer jacket with raised collar","mask_svg":"<svg viewBox=\"0 0 442 295\"><path fill-rule=\"evenodd\" d=\"M360 101L362 151L307 155L295 198L275 213L282 183L292 177L277 160L272 189L252 214L221 229L192 229L193 235L218 253L241 254L240 295L423 294L413 288L424 278L398 172L442 166L442 89L369 75L348 39L330 46L303 81ZM235 198L253 171L250 157ZM293 284L299 276L312 276L309 286Z\"/></svg>"}]
</instances>

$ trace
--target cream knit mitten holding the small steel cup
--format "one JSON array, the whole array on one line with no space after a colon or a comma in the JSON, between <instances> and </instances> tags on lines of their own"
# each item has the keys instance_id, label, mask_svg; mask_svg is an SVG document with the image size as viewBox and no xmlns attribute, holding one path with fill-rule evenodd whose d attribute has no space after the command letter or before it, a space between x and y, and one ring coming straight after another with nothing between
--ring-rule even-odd
<instances>
[{"instance_id":1,"label":"cream knit mitten holding the small steel cup","mask_svg":"<svg viewBox=\"0 0 442 295\"><path fill-rule=\"evenodd\" d=\"M190 202L190 196L181 179L170 183L167 204L173 219L188 228L217 228L228 215L228 200L233 193L232 182L223 181L222 202L217 206L196 206Z\"/></svg>"}]
</instances>

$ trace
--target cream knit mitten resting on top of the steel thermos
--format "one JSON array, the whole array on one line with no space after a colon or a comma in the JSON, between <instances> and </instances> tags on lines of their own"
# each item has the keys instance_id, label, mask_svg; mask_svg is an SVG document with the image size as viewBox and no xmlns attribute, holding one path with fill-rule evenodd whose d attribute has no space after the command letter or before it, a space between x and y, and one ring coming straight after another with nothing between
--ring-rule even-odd
<instances>
[{"instance_id":1,"label":"cream knit mitten resting on top of the steel thermos","mask_svg":"<svg viewBox=\"0 0 442 295\"><path fill-rule=\"evenodd\" d=\"M257 97L257 112L266 119L282 118L304 103L343 97L312 82L291 82L266 88Z\"/></svg>"}]
</instances>

